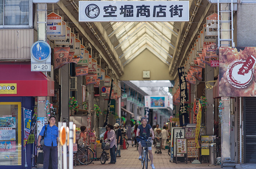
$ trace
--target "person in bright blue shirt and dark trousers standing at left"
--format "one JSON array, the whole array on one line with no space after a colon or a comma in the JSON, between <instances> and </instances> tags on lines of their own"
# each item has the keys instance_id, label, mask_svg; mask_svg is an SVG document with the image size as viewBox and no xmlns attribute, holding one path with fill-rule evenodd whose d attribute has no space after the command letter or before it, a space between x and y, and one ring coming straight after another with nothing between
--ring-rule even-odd
<instances>
[{"instance_id":1,"label":"person in bright blue shirt and dark trousers standing at left","mask_svg":"<svg viewBox=\"0 0 256 169\"><path fill-rule=\"evenodd\" d=\"M49 155L51 153L52 157L52 169L58 169L58 150L57 150L57 142L58 142L58 127L55 126L55 117L51 116L49 118L47 127L44 126L38 136L38 146L41 146L40 141L42 136L44 136L44 169L48 169L49 167ZM46 128L46 132L44 135L44 131Z\"/></svg>"}]
</instances>

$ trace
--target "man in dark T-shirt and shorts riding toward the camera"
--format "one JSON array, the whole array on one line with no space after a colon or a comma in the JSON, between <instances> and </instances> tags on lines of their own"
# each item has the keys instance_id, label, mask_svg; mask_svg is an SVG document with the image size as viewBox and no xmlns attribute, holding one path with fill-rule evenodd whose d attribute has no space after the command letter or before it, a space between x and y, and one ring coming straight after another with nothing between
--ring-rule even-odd
<instances>
[{"instance_id":1,"label":"man in dark T-shirt and shorts riding toward the camera","mask_svg":"<svg viewBox=\"0 0 256 169\"><path fill-rule=\"evenodd\" d=\"M152 139L154 140L154 132L153 132L153 129L152 127L150 126L150 124L147 124L147 119L146 117L142 117L140 119L141 123L139 126L138 126L138 129L137 129L137 133L136 135L140 135L140 137L144 137L145 135L147 137L150 137L150 132L152 134ZM139 160L141 160L141 152L142 152L142 147L141 147L141 144L139 142L139 148L138 148L138 151L139 151ZM154 164L153 164L153 154L152 154L152 147L148 147L148 154L149 154L149 158L151 160L151 167L152 169L155 169L154 167Z\"/></svg>"}]
</instances>

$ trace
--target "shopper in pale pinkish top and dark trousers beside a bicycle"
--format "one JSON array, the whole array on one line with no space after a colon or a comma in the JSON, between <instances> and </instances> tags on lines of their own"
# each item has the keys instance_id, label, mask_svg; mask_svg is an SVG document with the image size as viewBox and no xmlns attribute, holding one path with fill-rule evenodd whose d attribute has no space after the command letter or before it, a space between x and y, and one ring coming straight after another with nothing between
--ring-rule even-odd
<instances>
[{"instance_id":1,"label":"shopper in pale pinkish top and dark trousers beside a bicycle","mask_svg":"<svg viewBox=\"0 0 256 169\"><path fill-rule=\"evenodd\" d=\"M115 164L116 163L116 133L113 130L113 126L111 124L108 124L108 141L110 142L110 156L111 160L109 164Z\"/></svg>"}]
</instances>

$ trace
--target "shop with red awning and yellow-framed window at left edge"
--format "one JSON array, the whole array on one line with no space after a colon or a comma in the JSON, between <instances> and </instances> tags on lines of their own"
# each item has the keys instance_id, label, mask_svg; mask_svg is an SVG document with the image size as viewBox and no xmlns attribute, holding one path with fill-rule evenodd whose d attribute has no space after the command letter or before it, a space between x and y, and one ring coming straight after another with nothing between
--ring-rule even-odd
<instances>
[{"instance_id":1,"label":"shop with red awning and yellow-framed window at left edge","mask_svg":"<svg viewBox=\"0 0 256 169\"><path fill-rule=\"evenodd\" d=\"M0 63L0 72L0 167L32 168L35 146L23 146L23 108L34 110L36 97L53 96L54 81L31 72L30 62Z\"/></svg>"}]
</instances>

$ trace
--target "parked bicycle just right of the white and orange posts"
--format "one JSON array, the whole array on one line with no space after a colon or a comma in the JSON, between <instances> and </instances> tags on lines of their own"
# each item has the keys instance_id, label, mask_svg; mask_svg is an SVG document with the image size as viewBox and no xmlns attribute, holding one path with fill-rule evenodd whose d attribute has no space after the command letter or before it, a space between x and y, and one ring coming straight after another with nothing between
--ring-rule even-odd
<instances>
[{"instance_id":1,"label":"parked bicycle just right of the white and orange posts","mask_svg":"<svg viewBox=\"0 0 256 169\"><path fill-rule=\"evenodd\" d=\"M81 164L88 165L93 162L94 152L89 146L84 146L83 138L78 140L76 157Z\"/></svg>"}]
</instances>

